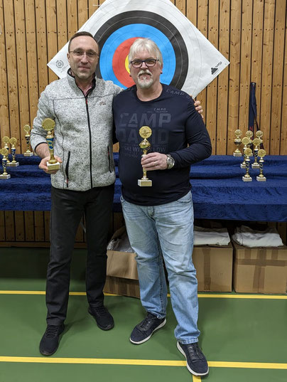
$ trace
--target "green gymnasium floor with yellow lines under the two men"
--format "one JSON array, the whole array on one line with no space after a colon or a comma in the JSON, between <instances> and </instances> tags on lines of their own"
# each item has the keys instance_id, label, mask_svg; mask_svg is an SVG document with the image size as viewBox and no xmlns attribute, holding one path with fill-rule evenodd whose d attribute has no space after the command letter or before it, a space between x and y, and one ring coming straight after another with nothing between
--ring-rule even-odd
<instances>
[{"instance_id":1,"label":"green gymnasium floor with yellow lines under the two men","mask_svg":"<svg viewBox=\"0 0 287 382\"><path fill-rule=\"evenodd\" d=\"M192 376L176 349L175 317L145 344L129 342L144 318L139 299L107 295L115 327L87 313L85 250L75 250L70 301L58 351L43 357L47 248L0 248L0 382L286 382L287 296L200 293L200 346L210 364Z\"/></svg>"}]
</instances>

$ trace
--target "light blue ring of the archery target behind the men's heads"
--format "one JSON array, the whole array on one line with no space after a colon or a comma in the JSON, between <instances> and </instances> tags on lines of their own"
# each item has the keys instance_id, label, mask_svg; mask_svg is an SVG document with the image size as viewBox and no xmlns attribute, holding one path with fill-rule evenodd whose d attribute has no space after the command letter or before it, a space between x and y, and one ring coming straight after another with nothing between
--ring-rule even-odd
<instances>
[{"instance_id":1,"label":"light blue ring of the archery target behind the men's heads","mask_svg":"<svg viewBox=\"0 0 287 382\"><path fill-rule=\"evenodd\" d=\"M161 75L161 83L170 84L175 74L175 52L168 38L157 28L147 24L129 24L114 31L104 43L101 49L99 67L104 80L112 80L113 83L126 88L120 79L114 74L112 59L117 47L131 37L151 38L163 55L164 70Z\"/></svg>"}]
</instances>

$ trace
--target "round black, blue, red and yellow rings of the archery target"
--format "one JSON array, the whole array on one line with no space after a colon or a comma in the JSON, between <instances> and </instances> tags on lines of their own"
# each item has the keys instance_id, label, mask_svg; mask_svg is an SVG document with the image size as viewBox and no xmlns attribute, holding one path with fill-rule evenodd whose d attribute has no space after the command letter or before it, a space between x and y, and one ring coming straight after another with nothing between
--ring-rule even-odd
<instances>
[{"instance_id":1,"label":"round black, blue, red and yellow rings of the archery target","mask_svg":"<svg viewBox=\"0 0 287 382\"><path fill-rule=\"evenodd\" d=\"M151 38L163 55L161 83L182 87L188 70L188 53L175 26L166 19L147 11L124 12L110 18L99 28L94 38L99 43L100 58L97 76L112 80L121 87L134 85L129 76L127 56L136 38ZM185 61L178 58L184 57Z\"/></svg>"}]
</instances>

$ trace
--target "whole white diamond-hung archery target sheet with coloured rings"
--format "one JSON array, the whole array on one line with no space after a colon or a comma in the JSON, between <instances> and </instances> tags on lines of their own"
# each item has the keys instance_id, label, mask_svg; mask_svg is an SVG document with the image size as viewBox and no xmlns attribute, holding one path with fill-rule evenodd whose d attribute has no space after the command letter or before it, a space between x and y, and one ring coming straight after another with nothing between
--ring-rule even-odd
<instances>
[{"instance_id":1,"label":"whole white diamond-hung archery target sheet with coloured rings","mask_svg":"<svg viewBox=\"0 0 287 382\"><path fill-rule=\"evenodd\" d=\"M193 97L229 64L170 0L105 0L80 31L89 31L99 42L97 76L121 87L133 84L127 55L139 37L151 38L161 49L161 82ZM67 45L48 63L60 78L69 68Z\"/></svg>"}]
</instances>

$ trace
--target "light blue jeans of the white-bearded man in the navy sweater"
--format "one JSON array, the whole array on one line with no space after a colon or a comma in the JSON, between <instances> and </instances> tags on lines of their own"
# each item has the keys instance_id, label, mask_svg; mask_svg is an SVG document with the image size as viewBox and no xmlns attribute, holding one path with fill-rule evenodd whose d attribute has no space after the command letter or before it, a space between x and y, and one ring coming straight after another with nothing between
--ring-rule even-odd
<instances>
[{"instance_id":1,"label":"light blue jeans of the white-bearded man in the navy sweater","mask_svg":"<svg viewBox=\"0 0 287 382\"><path fill-rule=\"evenodd\" d=\"M197 279L193 265L193 200L191 193L161 206L121 205L131 248L136 253L141 304L158 318L166 317L168 272L170 299L178 325L175 338L198 341Z\"/></svg>"}]
</instances>

